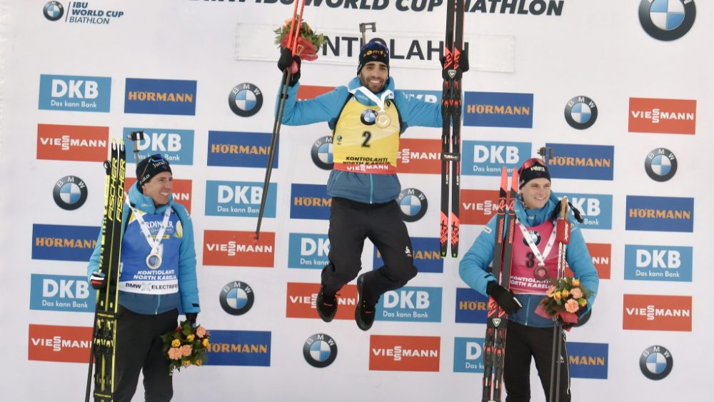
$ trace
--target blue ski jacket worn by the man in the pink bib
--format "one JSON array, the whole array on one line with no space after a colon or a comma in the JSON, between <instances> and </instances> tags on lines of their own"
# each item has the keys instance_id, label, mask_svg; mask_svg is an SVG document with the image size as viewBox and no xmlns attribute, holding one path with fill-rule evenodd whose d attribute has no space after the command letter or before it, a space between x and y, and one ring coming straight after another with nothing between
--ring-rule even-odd
<instances>
[{"instance_id":1,"label":"blue ski jacket worn by the man in the pink bib","mask_svg":"<svg viewBox=\"0 0 714 402\"><path fill-rule=\"evenodd\" d=\"M524 226L538 226L553 216L553 211L559 205L558 198L551 192L550 199L548 203L543 206L543 208L538 209L526 209L523 206L523 201L521 197L518 197L516 201L516 216L518 221L521 221ZM593 293L588 297L588 308L581 313L581 315L587 313L593 306L595 301L595 296L598 294L598 284L600 279L598 278L598 271L593 265L593 258L590 256L587 246L585 246L585 239L583 238L583 233L580 231L580 226L575 221L572 211L568 213L568 220L572 223L570 231L570 243L568 243L565 249L565 261L568 262L568 266L573 271L575 278L580 279L585 288L590 289ZM508 217L506 216L506 222ZM504 233L505 236L506 233ZM488 266L493 261L493 248L496 245L496 215L488 221L486 227L483 228L481 234L478 235L476 241L473 241L471 248L463 256L461 262L458 265L458 273L468 286L471 286L478 293L488 296L486 294L486 285L490 281L496 281L496 278L487 271ZM556 251L555 249L553 251ZM523 308L518 310L515 314L510 314L508 319L511 321L516 321L525 326L534 327L552 327L553 320L539 316L535 313L535 308L538 307L538 303L543 300L543 295L533 295L533 294L517 294L516 297L518 301L521 301Z\"/></svg>"}]
</instances>

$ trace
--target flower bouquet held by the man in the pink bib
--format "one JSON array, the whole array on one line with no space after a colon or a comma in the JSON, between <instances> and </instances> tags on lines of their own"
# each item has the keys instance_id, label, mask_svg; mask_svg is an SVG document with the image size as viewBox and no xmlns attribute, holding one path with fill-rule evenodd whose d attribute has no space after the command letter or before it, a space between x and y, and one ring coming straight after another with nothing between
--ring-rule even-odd
<instances>
[{"instance_id":1,"label":"flower bouquet held by the man in the pink bib","mask_svg":"<svg viewBox=\"0 0 714 402\"><path fill-rule=\"evenodd\" d=\"M554 279L535 313L548 318L560 316L563 323L577 323L578 313L587 308L590 294L578 279L569 276Z\"/></svg>"}]
</instances>

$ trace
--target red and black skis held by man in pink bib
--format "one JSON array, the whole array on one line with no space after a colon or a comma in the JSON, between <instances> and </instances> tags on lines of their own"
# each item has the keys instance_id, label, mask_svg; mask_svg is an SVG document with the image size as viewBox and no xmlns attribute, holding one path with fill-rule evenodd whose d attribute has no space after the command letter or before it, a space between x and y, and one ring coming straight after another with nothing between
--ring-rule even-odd
<instances>
[{"instance_id":1,"label":"red and black skis held by man in pink bib","mask_svg":"<svg viewBox=\"0 0 714 402\"><path fill-rule=\"evenodd\" d=\"M516 230L514 209L516 197L518 197L518 171L513 169L511 190L508 191L508 171L504 167L501 169L501 189L498 192L496 245L493 248L492 273L496 281L506 289L510 288L511 282L513 236ZM493 298L488 298L486 338L483 341L483 402L501 401L507 321L506 311L503 311Z\"/></svg>"}]
</instances>

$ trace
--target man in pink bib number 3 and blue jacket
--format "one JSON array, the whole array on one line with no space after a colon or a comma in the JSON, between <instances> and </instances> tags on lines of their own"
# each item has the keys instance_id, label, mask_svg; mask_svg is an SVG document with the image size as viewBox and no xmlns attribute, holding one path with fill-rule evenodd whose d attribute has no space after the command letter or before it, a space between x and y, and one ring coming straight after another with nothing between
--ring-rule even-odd
<instances>
[{"instance_id":1,"label":"man in pink bib number 3 and blue jacket","mask_svg":"<svg viewBox=\"0 0 714 402\"><path fill-rule=\"evenodd\" d=\"M518 171L519 196L516 200L516 228L513 238L513 263L511 264L511 291L496 282L487 270L493 261L496 243L496 216L491 218L473 245L459 263L459 274L468 286L483 295L491 296L508 313L508 336L503 382L508 402L531 400L531 357L535 359L540 383L548 398L550 393L550 362L553 350L553 320L535 313L545 292L550 287L548 278L557 276L558 248L549 247L555 240L554 213L560 211L560 200L550 191L550 174L540 159L528 159ZM565 251L565 261L585 288L593 293L580 316L590 313L598 293L598 271L593 265L583 233L573 221L570 243ZM504 223L505 225L506 223ZM526 240L530 236L533 242ZM537 252L536 252L537 251ZM547 269L547 273L544 270ZM513 292L513 293L511 293ZM515 293L515 294L514 294ZM568 351L563 336L560 361L560 401L570 402L570 373ZM556 401L553 401L556 402Z\"/></svg>"}]
</instances>

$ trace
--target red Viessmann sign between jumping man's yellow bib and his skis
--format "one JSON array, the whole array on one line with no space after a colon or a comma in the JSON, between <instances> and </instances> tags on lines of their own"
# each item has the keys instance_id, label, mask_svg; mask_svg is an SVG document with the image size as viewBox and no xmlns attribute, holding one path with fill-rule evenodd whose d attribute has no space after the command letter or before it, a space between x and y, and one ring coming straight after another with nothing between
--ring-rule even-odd
<instances>
[{"instance_id":1,"label":"red Viessmann sign between jumping man's yellow bib and his skis","mask_svg":"<svg viewBox=\"0 0 714 402\"><path fill-rule=\"evenodd\" d=\"M441 140L400 139L398 173L441 174Z\"/></svg>"}]
</instances>

